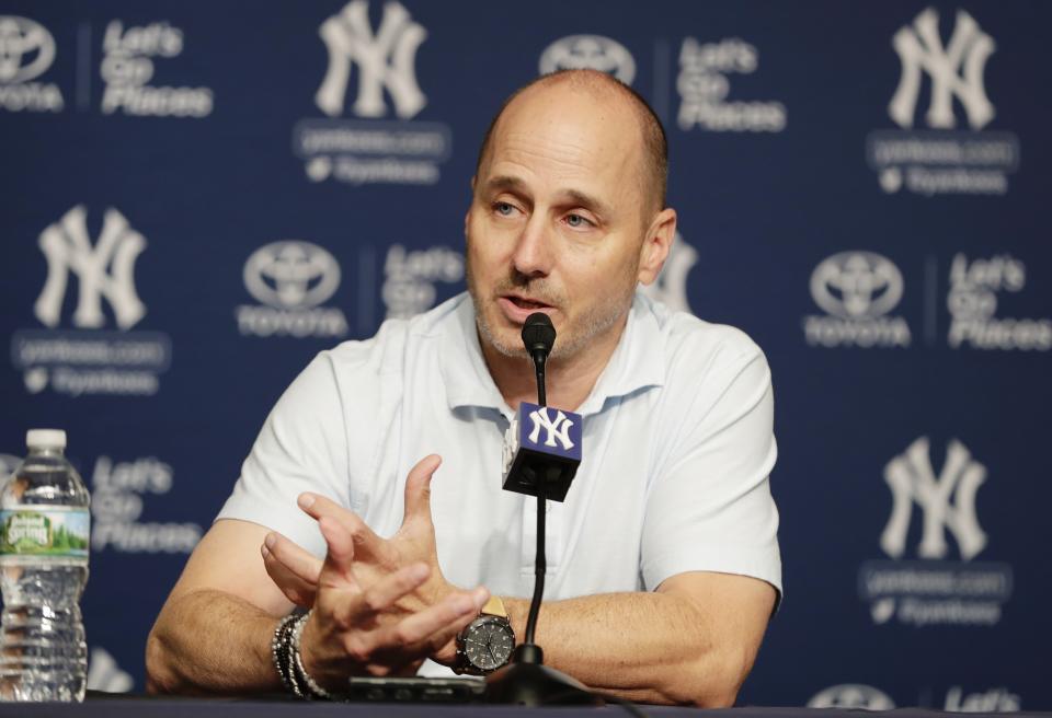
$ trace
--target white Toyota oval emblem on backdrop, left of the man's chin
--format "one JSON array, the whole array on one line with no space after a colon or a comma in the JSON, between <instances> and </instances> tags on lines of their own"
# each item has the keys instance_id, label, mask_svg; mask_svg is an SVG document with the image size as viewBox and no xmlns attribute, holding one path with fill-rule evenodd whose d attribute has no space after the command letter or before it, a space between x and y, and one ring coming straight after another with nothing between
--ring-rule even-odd
<instances>
[{"instance_id":1,"label":"white Toyota oval emblem on backdrop, left of the man's chin","mask_svg":"<svg viewBox=\"0 0 1052 718\"><path fill-rule=\"evenodd\" d=\"M244 263L244 287L275 309L318 306L340 287L340 265L317 244L287 240L260 247Z\"/></svg>"}]
</instances>

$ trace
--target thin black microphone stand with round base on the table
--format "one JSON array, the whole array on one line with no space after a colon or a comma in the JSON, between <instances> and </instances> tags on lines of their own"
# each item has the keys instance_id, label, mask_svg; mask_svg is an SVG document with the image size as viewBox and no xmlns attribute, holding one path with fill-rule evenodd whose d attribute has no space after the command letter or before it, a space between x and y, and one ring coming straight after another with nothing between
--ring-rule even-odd
<instances>
[{"instance_id":1,"label":"thin black microphone stand with round base on the table","mask_svg":"<svg viewBox=\"0 0 1052 718\"><path fill-rule=\"evenodd\" d=\"M537 373L537 404L548 406L545 392L545 363L551 347L527 348L530 350ZM548 508L546 474L547 472L537 472L537 554L534 558L534 598L529 602L526 636L515 648L508 664L487 678L484 697L487 703L511 703L534 707L602 706L603 699L588 691L583 683L545 665L545 652L534 642L537 616L545 594L545 571L548 569L545 557L545 514Z\"/></svg>"}]
</instances>

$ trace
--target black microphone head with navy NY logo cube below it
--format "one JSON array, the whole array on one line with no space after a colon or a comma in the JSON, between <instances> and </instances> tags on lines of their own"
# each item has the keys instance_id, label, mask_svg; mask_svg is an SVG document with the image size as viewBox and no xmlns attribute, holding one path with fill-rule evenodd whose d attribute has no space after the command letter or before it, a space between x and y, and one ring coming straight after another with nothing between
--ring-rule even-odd
<instances>
[{"instance_id":1,"label":"black microphone head with navy NY logo cube below it","mask_svg":"<svg viewBox=\"0 0 1052 718\"><path fill-rule=\"evenodd\" d=\"M523 345L537 373L537 404L522 402L504 442L503 487L507 491L563 501L581 464L581 415L547 406L545 363L556 327L544 312L523 325Z\"/></svg>"}]
</instances>

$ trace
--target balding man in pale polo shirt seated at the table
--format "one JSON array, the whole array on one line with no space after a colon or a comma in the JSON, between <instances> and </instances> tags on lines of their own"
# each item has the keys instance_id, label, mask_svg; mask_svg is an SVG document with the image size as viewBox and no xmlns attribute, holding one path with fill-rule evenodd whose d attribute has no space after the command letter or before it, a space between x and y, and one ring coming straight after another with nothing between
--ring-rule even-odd
<instances>
[{"instance_id":1,"label":"balding man in pale polo shirt seated at the table","mask_svg":"<svg viewBox=\"0 0 1052 718\"><path fill-rule=\"evenodd\" d=\"M665 174L660 123L611 78L513 95L472 180L470 300L293 383L151 632L152 690L278 690L271 642L294 601L313 606L304 671L331 691L424 659L464 669L456 636L491 597L521 640L536 501L501 490L500 466L536 397L522 324L542 311L548 402L585 431L549 503L546 662L633 700L733 704L780 590L770 378L741 333L636 293L675 234Z\"/></svg>"}]
</instances>

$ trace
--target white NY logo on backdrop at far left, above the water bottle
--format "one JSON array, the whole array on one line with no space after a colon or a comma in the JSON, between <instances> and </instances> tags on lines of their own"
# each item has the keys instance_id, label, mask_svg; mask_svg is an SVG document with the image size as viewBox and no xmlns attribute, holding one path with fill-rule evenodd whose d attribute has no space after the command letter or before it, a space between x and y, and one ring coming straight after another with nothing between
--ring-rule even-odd
<instances>
[{"instance_id":1,"label":"white NY logo on backdrop at far left, above the water bottle","mask_svg":"<svg viewBox=\"0 0 1052 718\"><path fill-rule=\"evenodd\" d=\"M117 326L130 328L146 315L146 305L135 292L135 260L146 248L141 234L128 227L128 220L115 209L103 217L99 244L88 238L87 211L73 207L55 224L41 233L41 251L47 258L47 280L34 305L36 317L46 326L58 325L66 297L69 273L80 283L73 324L98 328L105 324L102 298L113 308ZM106 271L106 268L111 271Z\"/></svg>"}]
</instances>

